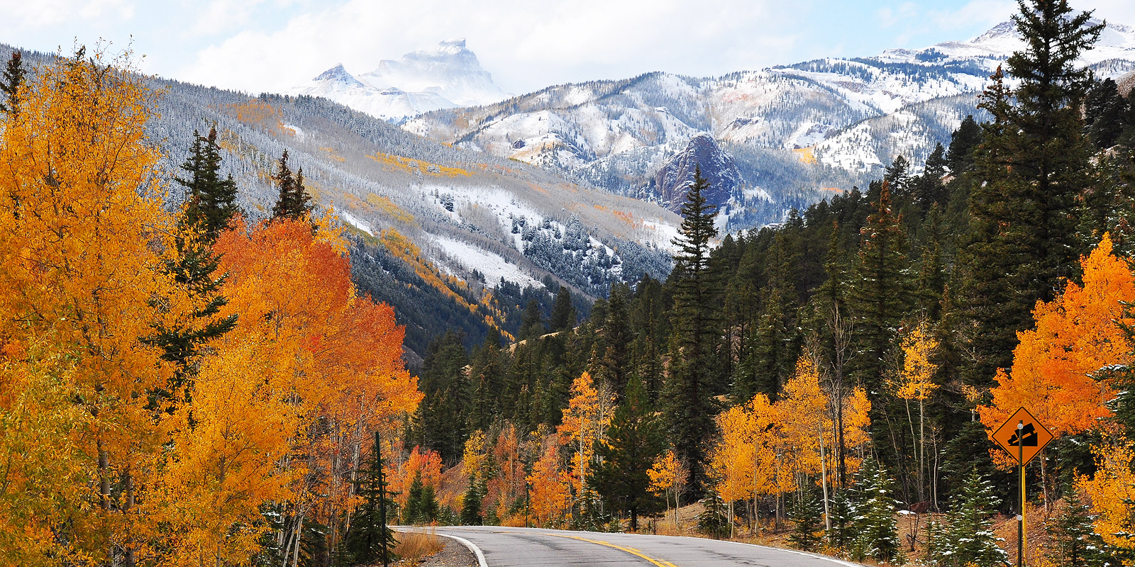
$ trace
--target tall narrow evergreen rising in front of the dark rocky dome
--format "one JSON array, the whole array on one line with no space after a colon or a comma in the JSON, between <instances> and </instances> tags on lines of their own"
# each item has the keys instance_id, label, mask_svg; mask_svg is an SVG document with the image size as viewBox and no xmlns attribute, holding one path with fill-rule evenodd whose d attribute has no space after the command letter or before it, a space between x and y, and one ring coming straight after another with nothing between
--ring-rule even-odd
<instances>
[{"instance_id":1,"label":"tall narrow evergreen rising in front of the dark rocky dome","mask_svg":"<svg viewBox=\"0 0 1135 567\"><path fill-rule=\"evenodd\" d=\"M709 246L717 236L716 210L703 192L708 181L696 169L682 205L682 225L674 239L678 254L671 276L674 289L673 340L670 376L665 384L670 437L680 458L689 464L688 484L705 484L705 443L714 431L711 390L714 374L715 313L717 311Z\"/></svg>"}]
</instances>

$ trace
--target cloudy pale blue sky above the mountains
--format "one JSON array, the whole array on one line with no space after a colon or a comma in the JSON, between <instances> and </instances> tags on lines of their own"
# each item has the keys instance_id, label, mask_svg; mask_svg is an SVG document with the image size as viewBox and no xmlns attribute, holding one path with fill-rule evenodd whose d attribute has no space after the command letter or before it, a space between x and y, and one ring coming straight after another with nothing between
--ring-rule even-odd
<instances>
[{"instance_id":1,"label":"cloudy pale blue sky above the mountains","mask_svg":"<svg viewBox=\"0 0 1135 567\"><path fill-rule=\"evenodd\" d=\"M1132 0L1071 6L1135 25ZM129 46L145 73L259 93L464 37L494 82L521 94L924 48L975 37L1015 10L1010 0L0 0L0 43L70 52L109 42Z\"/></svg>"}]
</instances>

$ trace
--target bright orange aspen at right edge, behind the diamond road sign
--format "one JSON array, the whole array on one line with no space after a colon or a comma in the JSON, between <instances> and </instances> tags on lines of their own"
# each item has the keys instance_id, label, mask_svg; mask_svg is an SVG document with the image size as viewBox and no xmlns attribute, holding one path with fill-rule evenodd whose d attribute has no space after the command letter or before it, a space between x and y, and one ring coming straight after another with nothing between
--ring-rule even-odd
<instances>
[{"instance_id":1,"label":"bright orange aspen at right edge, behind the diamond road sign","mask_svg":"<svg viewBox=\"0 0 1135 567\"><path fill-rule=\"evenodd\" d=\"M992 404L977 408L990 431L1018 407L1027 407L1056 437L1096 428L1111 414L1104 405L1111 389L1091 374L1129 362L1132 345L1116 322L1135 322L1123 308L1135 302L1135 278L1127 262L1112 254L1108 235L1081 259L1081 266L1083 286L1068 282L1059 297L1037 302L1035 328L1017 333L1012 369L998 371ZM1004 451L992 454L1000 465L1010 464Z\"/></svg>"}]
</instances>

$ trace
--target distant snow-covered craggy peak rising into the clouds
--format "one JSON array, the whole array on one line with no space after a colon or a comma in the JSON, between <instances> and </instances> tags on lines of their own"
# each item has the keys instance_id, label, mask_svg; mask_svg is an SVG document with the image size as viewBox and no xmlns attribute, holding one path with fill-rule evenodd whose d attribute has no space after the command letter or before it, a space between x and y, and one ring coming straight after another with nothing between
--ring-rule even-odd
<instances>
[{"instance_id":1,"label":"distant snow-covered craggy peak rising into the clouds","mask_svg":"<svg viewBox=\"0 0 1135 567\"><path fill-rule=\"evenodd\" d=\"M432 50L382 60L358 77L339 64L287 94L322 96L392 121L431 110L491 104L507 96L465 48L465 40L447 40Z\"/></svg>"}]
</instances>

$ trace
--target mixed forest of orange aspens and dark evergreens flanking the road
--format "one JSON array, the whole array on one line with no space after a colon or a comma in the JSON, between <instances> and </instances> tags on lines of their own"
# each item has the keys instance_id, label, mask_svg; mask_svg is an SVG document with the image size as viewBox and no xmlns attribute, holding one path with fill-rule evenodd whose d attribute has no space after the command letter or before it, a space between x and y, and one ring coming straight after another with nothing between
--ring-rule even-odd
<instances>
[{"instance_id":1,"label":"mixed forest of orange aspens and dark evergreens flanking the road","mask_svg":"<svg viewBox=\"0 0 1135 567\"><path fill-rule=\"evenodd\" d=\"M1010 565L991 434L1020 407L1054 437L1025 469L1031 565L1135 565L1135 90L1077 65L1090 12L1019 8L1026 49L924 168L728 234L698 170L669 276L642 260L594 302L502 280L484 339L417 359L375 299L411 286L360 276L303 162L274 155L278 197L244 214L211 125L159 171L163 93L129 52L17 51L0 565L380 565L400 524Z\"/></svg>"}]
</instances>

